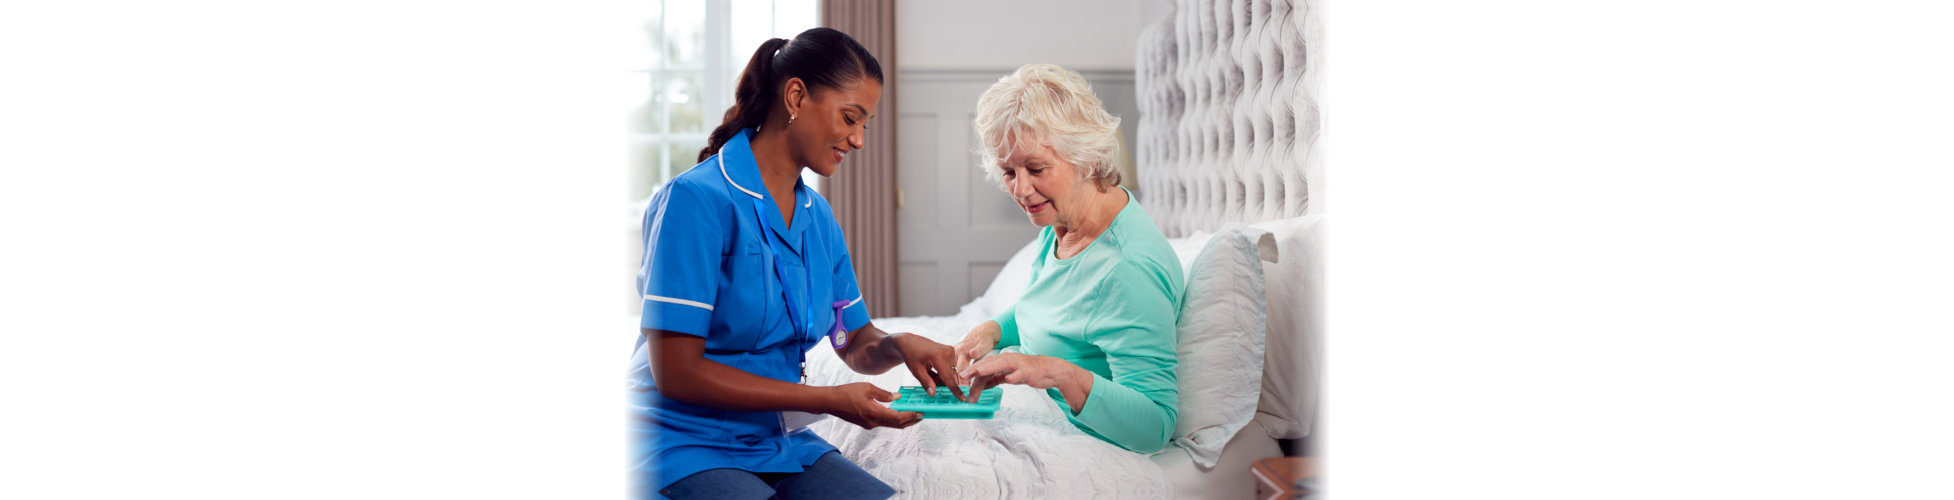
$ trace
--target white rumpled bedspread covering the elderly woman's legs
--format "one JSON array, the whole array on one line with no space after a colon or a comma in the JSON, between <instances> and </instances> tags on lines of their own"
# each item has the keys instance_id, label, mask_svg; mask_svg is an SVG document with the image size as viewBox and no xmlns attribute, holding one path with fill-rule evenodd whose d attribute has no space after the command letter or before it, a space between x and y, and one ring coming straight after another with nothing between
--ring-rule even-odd
<instances>
[{"instance_id":1,"label":"white rumpled bedspread covering the elderly woman's legs","mask_svg":"<svg viewBox=\"0 0 1954 500\"><path fill-rule=\"evenodd\" d=\"M965 307L957 316L879 318L889 332L914 332L956 344L985 320ZM811 385L870 381L885 391L918 385L909 369L860 375L832 350L807 355ZM1073 428L1045 391L1004 385L991 420L924 420L907 430L862 430L827 418L811 430L834 443L897 498L1168 498L1172 488L1161 469L1133 451L1100 441Z\"/></svg>"}]
</instances>

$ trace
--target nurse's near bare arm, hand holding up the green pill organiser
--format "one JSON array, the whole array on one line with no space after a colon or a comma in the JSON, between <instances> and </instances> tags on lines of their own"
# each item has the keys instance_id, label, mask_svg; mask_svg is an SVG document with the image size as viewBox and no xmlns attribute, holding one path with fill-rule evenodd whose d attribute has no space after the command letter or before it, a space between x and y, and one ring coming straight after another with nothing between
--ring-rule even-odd
<instances>
[{"instance_id":1,"label":"nurse's near bare arm, hand holding up the green pill organiser","mask_svg":"<svg viewBox=\"0 0 1954 500\"><path fill-rule=\"evenodd\" d=\"M920 420L914 412L895 412L877 402L895 400L889 391L868 383L811 387L746 373L705 359L705 338L643 328L655 342L651 377L658 395L735 412L817 412L834 414L862 428L905 428Z\"/></svg>"}]
</instances>

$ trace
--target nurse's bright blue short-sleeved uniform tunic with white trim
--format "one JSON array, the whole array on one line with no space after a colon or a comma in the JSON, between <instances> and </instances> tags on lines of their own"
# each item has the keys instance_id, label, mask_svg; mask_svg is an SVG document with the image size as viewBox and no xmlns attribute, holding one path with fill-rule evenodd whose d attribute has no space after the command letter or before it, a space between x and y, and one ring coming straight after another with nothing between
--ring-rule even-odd
<instances>
[{"instance_id":1,"label":"nurse's bright blue short-sleeved uniform tunic with white trim","mask_svg":"<svg viewBox=\"0 0 1954 500\"><path fill-rule=\"evenodd\" d=\"M637 273L645 295L639 324L701 336L705 359L799 383L807 350L825 344L836 311L846 334L868 324L868 305L828 201L795 182L793 227L787 227L760 184L750 137L752 129L733 135L717 156L651 197ZM707 469L801 473L834 451L813 432L787 436L780 412L731 412L664 398L653 385L649 355L639 336L625 381L631 475L651 488L645 496Z\"/></svg>"}]
</instances>

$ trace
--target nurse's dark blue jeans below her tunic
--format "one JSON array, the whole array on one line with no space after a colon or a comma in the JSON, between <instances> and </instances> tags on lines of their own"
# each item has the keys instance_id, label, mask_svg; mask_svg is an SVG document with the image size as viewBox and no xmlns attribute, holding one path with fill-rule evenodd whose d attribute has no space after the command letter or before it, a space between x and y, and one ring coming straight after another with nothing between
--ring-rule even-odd
<instances>
[{"instance_id":1,"label":"nurse's dark blue jeans below her tunic","mask_svg":"<svg viewBox=\"0 0 1954 500\"><path fill-rule=\"evenodd\" d=\"M862 467L844 459L838 451L828 451L805 467L799 475L764 473L754 475L741 469L700 471L664 490L664 498L864 498L881 500L895 496L895 488L868 475Z\"/></svg>"}]
</instances>

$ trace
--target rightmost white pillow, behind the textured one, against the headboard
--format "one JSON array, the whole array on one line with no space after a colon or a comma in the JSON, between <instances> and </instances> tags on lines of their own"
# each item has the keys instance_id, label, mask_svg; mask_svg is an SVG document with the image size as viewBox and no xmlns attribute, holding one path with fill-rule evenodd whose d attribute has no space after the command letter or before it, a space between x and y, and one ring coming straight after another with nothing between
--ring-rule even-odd
<instances>
[{"instance_id":1,"label":"rightmost white pillow, behind the textured one, against the headboard","mask_svg":"<svg viewBox=\"0 0 1954 500\"><path fill-rule=\"evenodd\" d=\"M1253 225L1282 256L1262 264L1268 291L1268 373L1258 422L1268 438L1309 436L1323 387L1323 215Z\"/></svg>"}]
</instances>

